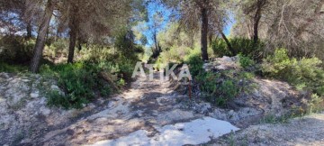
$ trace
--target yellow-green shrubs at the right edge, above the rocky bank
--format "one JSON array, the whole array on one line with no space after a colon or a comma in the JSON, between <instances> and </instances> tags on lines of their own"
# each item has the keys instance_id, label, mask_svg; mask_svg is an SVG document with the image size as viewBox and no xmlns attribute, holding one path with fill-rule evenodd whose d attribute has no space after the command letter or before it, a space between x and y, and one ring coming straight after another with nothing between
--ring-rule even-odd
<instances>
[{"instance_id":1,"label":"yellow-green shrubs at the right edge, above the rocky bank","mask_svg":"<svg viewBox=\"0 0 324 146\"><path fill-rule=\"evenodd\" d=\"M290 59L287 50L275 50L275 54L264 60L263 72L271 78L289 82L293 86L309 90L322 96L324 77L320 59Z\"/></svg>"}]
</instances>

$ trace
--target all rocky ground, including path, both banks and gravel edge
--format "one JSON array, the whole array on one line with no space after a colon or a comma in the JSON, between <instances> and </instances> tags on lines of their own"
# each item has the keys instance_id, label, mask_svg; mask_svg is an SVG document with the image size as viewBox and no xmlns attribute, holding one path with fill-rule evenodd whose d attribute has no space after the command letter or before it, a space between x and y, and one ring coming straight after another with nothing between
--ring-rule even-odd
<instances>
[{"instance_id":1,"label":"all rocky ground, including path, both banks and gravel edge","mask_svg":"<svg viewBox=\"0 0 324 146\"><path fill-rule=\"evenodd\" d=\"M238 68L237 58L216 59L204 68ZM188 93L175 91L175 83L160 82L158 76L155 73L150 81L138 78L121 95L66 111L46 105L41 88L59 90L55 81L38 75L0 73L0 145L230 145L235 141L280 145L299 138L298 134L296 139L285 138L281 133L295 131L301 132L300 143L323 142L316 137L322 128L320 119L297 120L286 126L258 124L265 116L280 117L303 105L306 99L284 82L253 78L257 86L235 98L231 106L235 108L223 109L204 102L199 93L189 100ZM303 129L293 126L306 122L314 124ZM318 131L313 131L315 128ZM231 131L238 131L235 137L218 138Z\"/></svg>"}]
</instances>

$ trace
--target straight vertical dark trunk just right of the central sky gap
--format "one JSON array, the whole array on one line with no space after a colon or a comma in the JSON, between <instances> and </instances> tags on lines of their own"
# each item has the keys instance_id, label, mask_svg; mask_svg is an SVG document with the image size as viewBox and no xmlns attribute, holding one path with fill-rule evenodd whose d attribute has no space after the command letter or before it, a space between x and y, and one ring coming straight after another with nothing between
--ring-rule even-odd
<instances>
[{"instance_id":1,"label":"straight vertical dark trunk just right of the central sky gap","mask_svg":"<svg viewBox=\"0 0 324 146\"><path fill-rule=\"evenodd\" d=\"M207 9L202 8L202 60L208 60L208 15Z\"/></svg>"}]
</instances>

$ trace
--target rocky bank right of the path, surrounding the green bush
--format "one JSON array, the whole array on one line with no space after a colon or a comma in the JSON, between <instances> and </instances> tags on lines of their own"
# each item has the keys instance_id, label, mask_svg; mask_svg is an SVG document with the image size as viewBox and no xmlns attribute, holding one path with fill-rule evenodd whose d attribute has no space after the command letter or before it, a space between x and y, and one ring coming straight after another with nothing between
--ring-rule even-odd
<instances>
[{"instance_id":1,"label":"rocky bank right of the path, surrounding the green bush","mask_svg":"<svg viewBox=\"0 0 324 146\"><path fill-rule=\"evenodd\" d=\"M231 76L241 74L244 69L240 67L238 57L226 57L213 59L204 63L203 69L218 74ZM226 78L219 78L220 80ZM240 128L256 124L266 115L276 117L290 114L292 108L303 107L307 101L306 96L296 91L285 82L254 77L248 79L243 85L247 91L241 92L229 102L227 109L212 107L203 102L199 87L193 87L193 95L197 96L197 102L190 105L196 113L208 114L216 119L229 121Z\"/></svg>"}]
</instances>

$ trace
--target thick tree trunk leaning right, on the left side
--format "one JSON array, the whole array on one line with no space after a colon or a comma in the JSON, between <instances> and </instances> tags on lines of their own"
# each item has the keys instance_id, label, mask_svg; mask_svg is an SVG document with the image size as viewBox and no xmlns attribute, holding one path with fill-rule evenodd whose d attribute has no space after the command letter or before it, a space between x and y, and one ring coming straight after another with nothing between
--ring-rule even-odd
<instances>
[{"instance_id":1,"label":"thick tree trunk leaning right, on the left side","mask_svg":"<svg viewBox=\"0 0 324 146\"><path fill-rule=\"evenodd\" d=\"M39 32L37 35L37 40L33 52L33 57L31 59L31 72L36 73L40 68L40 59L42 57L42 51L44 49L45 41L46 41L46 33L49 29L50 18L53 13L54 6L52 5L52 1L49 0L46 5L46 9L43 15L42 22L40 23Z\"/></svg>"}]
</instances>

